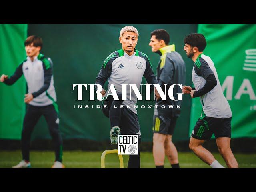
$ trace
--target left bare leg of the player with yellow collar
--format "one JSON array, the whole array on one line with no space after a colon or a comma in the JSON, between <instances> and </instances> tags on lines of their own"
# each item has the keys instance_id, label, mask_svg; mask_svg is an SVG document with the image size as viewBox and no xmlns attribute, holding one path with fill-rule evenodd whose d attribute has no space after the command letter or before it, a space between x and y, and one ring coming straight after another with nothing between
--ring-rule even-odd
<instances>
[{"instance_id":1,"label":"left bare leg of the player with yellow collar","mask_svg":"<svg viewBox=\"0 0 256 192\"><path fill-rule=\"evenodd\" d=\"M153 156L156 166L164 165L164 140L166 135L154 133L153 135Z\"/></svg>"}]
</instances>

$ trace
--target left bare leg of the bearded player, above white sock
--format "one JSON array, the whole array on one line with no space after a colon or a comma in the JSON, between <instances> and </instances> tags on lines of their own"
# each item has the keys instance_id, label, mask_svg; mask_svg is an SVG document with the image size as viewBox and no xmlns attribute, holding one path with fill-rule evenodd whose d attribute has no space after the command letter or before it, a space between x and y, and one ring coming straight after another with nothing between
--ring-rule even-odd
<instances>
[{"instance_id":1,"label":"left bare leg of the bearded player, above white sock","mask_svg":"<svg viewBox=\"0 0 256 192\"><path fill-rule=\"evenodd\" d=\"M206 148L202 146L205 140L195 139L190 137L189 148L208 165L215 161L214 156Z\"/></svg>"}]
</instances>

